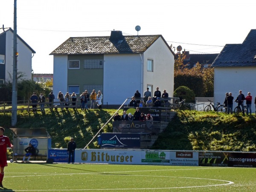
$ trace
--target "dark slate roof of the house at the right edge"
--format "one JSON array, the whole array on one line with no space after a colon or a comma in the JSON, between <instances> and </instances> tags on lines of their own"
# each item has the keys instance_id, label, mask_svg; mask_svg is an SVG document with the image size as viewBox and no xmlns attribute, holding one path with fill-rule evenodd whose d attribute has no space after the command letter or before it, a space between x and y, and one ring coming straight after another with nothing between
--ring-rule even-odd
<instances>
[{"instance_id":1,"label":"dark slate roof of the house at the right edge","mask_svg":"<svg viewBox=\"0 0 256 192\"><path fill-rule=\"evenodd\" d=\"M212 67L256 66L256 29L251 29L242 44L226 44Z\"/></svg>"}]
</instances>

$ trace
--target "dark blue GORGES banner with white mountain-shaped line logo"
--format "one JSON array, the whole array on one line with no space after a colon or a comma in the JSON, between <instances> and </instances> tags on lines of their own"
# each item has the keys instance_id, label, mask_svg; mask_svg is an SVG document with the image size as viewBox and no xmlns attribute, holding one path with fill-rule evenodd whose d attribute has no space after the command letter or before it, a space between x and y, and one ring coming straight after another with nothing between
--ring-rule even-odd
<instances>
[{"instance_id":1,"label":"dark blue GORGES banner with white mountain-shaped line logo","mask_svg":"<svg viewBox=\"0 0 256 192\"><path fill-rule=\"evenodd\" d=\"M102 133L101 148L140 148L140 134Z\"/></svg>"}]
</instances>

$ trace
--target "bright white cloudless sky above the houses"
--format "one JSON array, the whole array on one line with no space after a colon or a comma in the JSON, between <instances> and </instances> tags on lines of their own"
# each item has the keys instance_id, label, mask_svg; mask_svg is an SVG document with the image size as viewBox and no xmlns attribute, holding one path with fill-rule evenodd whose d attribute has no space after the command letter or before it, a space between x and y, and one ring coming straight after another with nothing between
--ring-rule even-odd
<instances>
[{"instance_id":1,"label":"bright white cloudless sky above the houses","mask_svg":"<svg viewBox=\"0 0 256 192\"><path fill-rule=\"evenodd\" d=\"M137 25L190 54L219 53L256 29L255 8L254 0L17 0L17 34L36 52L34 73L53 73L49 54L68 38L137 35ZM0 10L0 27L13 29L14 0L0 0Z\"/></svg>"}]
</instances>

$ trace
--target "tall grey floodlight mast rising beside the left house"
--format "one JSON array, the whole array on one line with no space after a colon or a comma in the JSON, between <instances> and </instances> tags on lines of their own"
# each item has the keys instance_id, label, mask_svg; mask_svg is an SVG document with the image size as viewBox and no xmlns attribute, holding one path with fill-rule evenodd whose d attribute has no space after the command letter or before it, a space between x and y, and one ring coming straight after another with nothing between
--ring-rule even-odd
<instances>
[{"instance_id":1,"label":"tall grey floodlight mast rising beside the left house","mask_svg":"<svg viewBox=\"0 0 256 192\"><path fill-rule=\"evenodd\" d=\"M12 72L12 126L17 124L17 0L14 0L13 17L13 72Z\"/></svg>"}]
</instances>

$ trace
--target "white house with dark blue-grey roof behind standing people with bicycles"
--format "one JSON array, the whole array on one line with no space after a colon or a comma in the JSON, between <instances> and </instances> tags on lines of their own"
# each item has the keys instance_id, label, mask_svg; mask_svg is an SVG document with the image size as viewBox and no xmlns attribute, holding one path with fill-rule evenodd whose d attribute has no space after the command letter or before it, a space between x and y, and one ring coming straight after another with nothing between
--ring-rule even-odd
<instances>
[{"instance_id":1,"label":"white house with dark blue-grey roof behind standing people with bicycles","mask_svg":"<svg viewBox=\"0 0 256 192\"><path fill-rule=\"evenodd\" d=\"M212 64L214 67L214 100L224 102L225 93L233 93L234 100L242 90L244 96L256 96L256 29L251 29L242 44L226 44ZM245 102L244 102L245 104ZM236 107L236 102L233 108Z\"/></svg>"}]
</instances>

